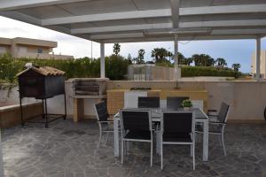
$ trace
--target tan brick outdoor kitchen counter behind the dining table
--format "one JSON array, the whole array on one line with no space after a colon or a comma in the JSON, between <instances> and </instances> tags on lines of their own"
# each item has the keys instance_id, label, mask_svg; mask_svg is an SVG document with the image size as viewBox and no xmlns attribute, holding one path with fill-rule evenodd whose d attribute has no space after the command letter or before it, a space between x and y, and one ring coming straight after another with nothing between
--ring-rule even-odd
<instances>
[{"instance_id":1,"label":"tan brick outdoor kitchen counter behind the dining table","mask_svg":"<svg viewBox=\"0 0 266 177\"><path fill-rule=\"evenodd\" d=\"M192 90L192 89L109 89L107 90L107 108L110 114L117 113L125 106L125 93L146 94L146 96L160 96L160 100L166 100L168 96L189 96L192 100L203 100L204 111L207 111L207 90Z\"/></svg>"}]
</instances>

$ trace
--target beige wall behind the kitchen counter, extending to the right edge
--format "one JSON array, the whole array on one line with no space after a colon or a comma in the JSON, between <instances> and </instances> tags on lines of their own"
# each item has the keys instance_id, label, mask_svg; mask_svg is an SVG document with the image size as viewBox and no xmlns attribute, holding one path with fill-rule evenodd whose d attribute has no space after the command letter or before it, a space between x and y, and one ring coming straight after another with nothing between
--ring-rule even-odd
<instances>
[{"instance_id":1,"label":"beige wall behind the kitchen counter, extending to the right edge","mask_svg":"<svg viewBox=\"0 0 266 177\"><path fill-rule=\"evenodd\" d=\"M107 89L133 87L206 89L208 109L219 109L222 101L231 104L229 121L266 122L266 81L108 81L107 84Z\"/></svg>"}]
</instances>

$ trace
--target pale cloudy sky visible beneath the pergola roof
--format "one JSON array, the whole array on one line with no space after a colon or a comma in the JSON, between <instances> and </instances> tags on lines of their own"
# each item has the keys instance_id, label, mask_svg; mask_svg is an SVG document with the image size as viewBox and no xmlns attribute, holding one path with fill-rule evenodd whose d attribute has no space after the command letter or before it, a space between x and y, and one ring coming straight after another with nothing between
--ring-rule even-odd
<instances>
[{"instance_id":1,"label":"pale cloudy sky visible beneath the pergola roof","mask_svg":"<svg viewBox=\"0 0 266 177\"><path fill-rule=\"evenodd\" d=\"M91 42L72 35L62 34L43 27L36 27L14 19L0 16L0 37L27 37L58 42L55 54L72 55L74 58L91 56ZM251 58L255 50L255 40L216 40L179 42L179 52L189 58L193 54L205 53L212 58L224 58L228 66L234 63L241 65L240 71L250 72ZM154 48L165 48L174 51L174 42L136 42L121 43L121 56L137 57L137 51L145 50L145 60L152 60ZM106 56L113 53L113 44L106 44ZM266 50L266 38L262 38L262 50ZM92 42L92 56L100 56L100 45Z\"/></svg>"}]
</instances>

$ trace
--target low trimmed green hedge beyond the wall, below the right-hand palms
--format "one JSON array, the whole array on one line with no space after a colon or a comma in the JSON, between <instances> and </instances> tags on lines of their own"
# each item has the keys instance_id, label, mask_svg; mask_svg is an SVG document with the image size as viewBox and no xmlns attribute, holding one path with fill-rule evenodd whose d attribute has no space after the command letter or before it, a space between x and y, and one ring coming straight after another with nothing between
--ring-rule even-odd
<instances>
[{"instance_id":1,"label":"low trimmed green hedge beyond the wall, below the right-hand palms","mask_svg":"<svg viewBox=\"0 0 266 177\"><path fill-rule=\"evenodd\" d=\"M181 75L182 77L220 76L239 78L241 73L235 72L230 68L217 68L211 66L182 66Z\"/></svg>"}]
</instances>

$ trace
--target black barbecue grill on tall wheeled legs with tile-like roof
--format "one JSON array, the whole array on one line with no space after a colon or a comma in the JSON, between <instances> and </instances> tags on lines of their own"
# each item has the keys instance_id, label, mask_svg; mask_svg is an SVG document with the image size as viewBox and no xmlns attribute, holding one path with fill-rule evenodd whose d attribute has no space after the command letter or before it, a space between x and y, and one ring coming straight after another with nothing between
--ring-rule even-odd
<instances>
[{"instance_id":1,"label":"black barbecue grill on tall wheeled legs with tile-like roof","mask_svg":"<svg viewBox=\"0 0 266 177\"><path fill-rule=\"evenodd\" d=\"M29 66L26 70L18 73L19 77L19 92L20 92L20 113L21 125L24 126L26 120L23 119L22 98L35 97L43 101L43 114L44 121L27 122L44 123L48 127L49 123L55 119L63 117L66 119L66 94L65 94L65 72L56 68L43 66L38 67L35 65ZM48 114L47 112L47 99L53 96L64 95L65 98L65 114Z\"/></svg>"}]
</instances>

